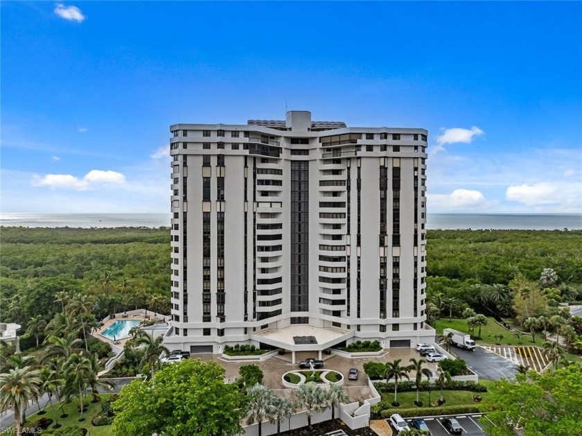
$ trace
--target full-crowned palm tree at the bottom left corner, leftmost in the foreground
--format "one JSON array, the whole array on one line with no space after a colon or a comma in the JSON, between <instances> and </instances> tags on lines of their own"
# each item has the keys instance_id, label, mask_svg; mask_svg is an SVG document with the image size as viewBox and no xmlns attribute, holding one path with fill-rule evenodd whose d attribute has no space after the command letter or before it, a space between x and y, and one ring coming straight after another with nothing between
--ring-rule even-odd
<instances>
[{"instance_id":1,"label":"full-crowned palm tree at the bottom left corner, leftmost in the foreground","mask_svg":"<svg viewBox=\"0 0 582 436\"><path fill-rule=\"evenodd\" d=\"M40 394L41 380L37 369L10 369L0 374L0 410L14 409L15 434L20 435L20 419L28 402Z\"/></svg>"}]
</instances>

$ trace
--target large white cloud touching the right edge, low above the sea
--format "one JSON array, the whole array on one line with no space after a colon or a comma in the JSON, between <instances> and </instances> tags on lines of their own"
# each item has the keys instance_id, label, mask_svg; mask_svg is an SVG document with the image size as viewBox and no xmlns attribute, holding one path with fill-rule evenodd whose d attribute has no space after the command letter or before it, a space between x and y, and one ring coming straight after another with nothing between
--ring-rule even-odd
<instances>
[{"instance_id":1,"label":"large white cloud touching the right edge, low above the sea","mask_svg":"<svg viewBox=\"0 0 582 436\"><path fill-rule=\"evenodd\" d=\"M561 211L582 210L582 182L541 182L509 186L507 200L528 207L557 204ZM558 211L560 211L558 210Z\"/></svg>"}]
</instances>

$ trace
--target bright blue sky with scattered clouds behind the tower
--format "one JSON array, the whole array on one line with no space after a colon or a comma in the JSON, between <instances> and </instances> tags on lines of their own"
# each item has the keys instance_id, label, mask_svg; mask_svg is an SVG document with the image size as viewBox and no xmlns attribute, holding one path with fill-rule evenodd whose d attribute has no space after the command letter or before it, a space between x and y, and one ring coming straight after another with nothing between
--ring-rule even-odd
<instances>
[{"instance_id":1,"label":"bright blue sky with scattered clouds behind the tower","mask_svg":"<svg viewBox=\"0 0 582 436\"><path fill-rule=\"evenodd\" d=\"M0 3L1 211L169 211L169 125L427 128L429 213L582 213L580 2Z\"/></svg>"}]
</instances>

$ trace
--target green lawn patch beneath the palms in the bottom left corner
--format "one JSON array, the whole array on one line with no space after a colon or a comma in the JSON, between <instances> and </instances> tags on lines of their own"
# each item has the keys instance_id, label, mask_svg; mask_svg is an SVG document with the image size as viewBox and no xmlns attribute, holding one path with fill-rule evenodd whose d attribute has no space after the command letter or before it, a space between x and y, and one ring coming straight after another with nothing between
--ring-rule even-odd
<instances>
[{"instance_id":1,"label":"green lawn patch beneath the palms in the bottom left corner","mask_svg":"<svg viewBox=\"0 0 582 436\"><path fill-rule=\"evenodd\" d=\"M109 398L109 396L111 396L112 394L101 394L101 400L103 401L104 399ZM87 395L85 397L84 403L85 405L88 404L89 408L87 409L86 412L83 412L83 417L85 417L85 421L79 422L79 411L77 409L77 406L79 404L79 400L78 399L73 399L73 401L71 401L71 403L69 404L65 404L63 406L64 412L67 413L69 416L66 418L61 418L61 411L60 409L58 409L58 404L54 404L53 408L58 409L56 410L56 414L57 414L57 419L59 424L61 424L63 427L64 426L78 426L81 428L87 428L87 430L89 430L89 433L87 433L87 435L91 435L91 436L112 436L113 435L113 429L112 426L94 426L93 424L91 424L91 419L93 419L96 415L98 415L101 412L101 402L99 403L91 403L91 399L92 396L91 395ZM54 400L53 400L54 403ZM53 410L51 409L51 406L47 406L46 407L46 414L42 415L42 417L46 417L46 418L50 418L50 419L55 419L55 415L53 413ZM33 422L37 419L39 419L41 417L37 416L37 415L32 415L28 418L26 418L27 422ZM48 430L50 430L51 428L53 428L53 426L55 425L55 423L53 422L53 424L48 428Z\"/></svg>"}]
</instances>

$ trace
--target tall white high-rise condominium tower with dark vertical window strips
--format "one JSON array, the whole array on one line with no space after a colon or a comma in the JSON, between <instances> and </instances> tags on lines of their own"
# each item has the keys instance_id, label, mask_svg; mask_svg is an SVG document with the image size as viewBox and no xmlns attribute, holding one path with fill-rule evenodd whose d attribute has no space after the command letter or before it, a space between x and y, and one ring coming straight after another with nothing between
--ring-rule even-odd
<instances>
[{"instance_id":1,"label":"tall white high-rise condominium tower with dark vertical window strips","mask_svg":"<svg viewBox=\"0 0 582 436\"><path fill-rule=\"evenodd\" d=\"M425 324L427 131L286 121L170 127L168 347L321 351ZM294 354L293 354L294 356Z\"/></svg>"}]
</instances>

